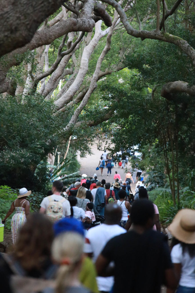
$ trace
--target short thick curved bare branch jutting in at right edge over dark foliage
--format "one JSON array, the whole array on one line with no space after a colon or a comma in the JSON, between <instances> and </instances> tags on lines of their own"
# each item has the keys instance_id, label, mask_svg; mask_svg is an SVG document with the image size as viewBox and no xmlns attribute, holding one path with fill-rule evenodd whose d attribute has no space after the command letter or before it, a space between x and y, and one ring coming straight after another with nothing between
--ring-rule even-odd
<instances>
[{"instance_id":1,"label":"short thick curved bare branch jutting in at right edge over dark foliage","mask_svg":"<svg viewBox=\"0 0 195 293\"><path fill-rule=\"evenodd\" d=\"M164 84L161 90L161 96L170 100L172 93L187 93L195 97L195 85L190 86L188 82L180 80Z\"/></svg>"}]
</instances>

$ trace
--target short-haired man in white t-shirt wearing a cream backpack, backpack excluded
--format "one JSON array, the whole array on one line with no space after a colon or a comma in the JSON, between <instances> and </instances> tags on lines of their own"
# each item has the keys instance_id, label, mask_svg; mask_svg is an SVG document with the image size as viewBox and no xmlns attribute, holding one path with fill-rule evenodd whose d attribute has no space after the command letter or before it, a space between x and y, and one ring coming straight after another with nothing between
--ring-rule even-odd
<instances>
[{"instance_id":1,"label":"short-haired man in white t-shirt wearing a cream backpack, backpack excluded","mask_svg":"<svg viewBox=\"0 0 195 293\"><path fill-rule=\"evenodd\" d=\"M50 204L50 199L52 199L54 202L61 201L62 208L63 208L63 216L62 217L70 217L70 202L66 200L63 196L61 196L61 190L63 188L63 182L56 180L54 181L52 185L52 195L44 197L42 200L40 206L40 213L47 214L47 208Z\"/></svg>"}]
</instances>

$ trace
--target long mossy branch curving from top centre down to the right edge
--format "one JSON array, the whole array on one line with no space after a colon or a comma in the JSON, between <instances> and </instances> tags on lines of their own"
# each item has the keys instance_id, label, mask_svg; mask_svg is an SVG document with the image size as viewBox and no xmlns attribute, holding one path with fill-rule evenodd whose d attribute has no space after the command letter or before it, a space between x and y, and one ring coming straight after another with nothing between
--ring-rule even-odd
<instances>
[{"instance_id":1,"label":"long mossy branch curving from top centre down to the right edge","mask_svg":"<svg viewBox=\"0 0 195 293\"><path fill-rule=\"evenodd\" d=\"M125 12L122 10L122 7L119 3L117 3L115 0L102 0L102 2L106 2L110 5L112 5L116 11L118 12L120 16L120 20L122 21L127 33L129 35L132 35L135 38L147 38L147 39L153 39L153 40L160 40L164 42L168 42L171 44L176 45L179 47L185 54L189 56L189 58L192 60L193 65L195 66L195 50L193 47L191 47L186 40L183 40L182 38L171 35L169 33L165 32L157 32L156 30L148 31L148 30L136 30L134 29L125 14Z\"/></svg>"}]
</instances>

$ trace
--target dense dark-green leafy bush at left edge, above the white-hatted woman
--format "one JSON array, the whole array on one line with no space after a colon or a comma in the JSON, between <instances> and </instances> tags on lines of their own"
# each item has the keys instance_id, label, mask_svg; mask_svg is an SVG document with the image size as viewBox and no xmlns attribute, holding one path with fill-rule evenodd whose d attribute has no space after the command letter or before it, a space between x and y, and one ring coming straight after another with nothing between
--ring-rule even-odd
<instances>
[{"instance_id":1,"label":"dense dark-green leafy bush at left edge, above the white-hatted woman","mask_svg":"<svg viewBox=\"0 0 195 293\"><path fill-rule=\"evenodd\" d=\"M39 95L1 98L0 176L12 188L42 190L45 185L46 156L56 147L60 122L54 106ZM52 117L52 120L51 120ZM40 164L40 162L43 163ZM37 168L37 166L39 167ZM35 173L35 170L37 172Z\"/></svg>"}]
</instances>

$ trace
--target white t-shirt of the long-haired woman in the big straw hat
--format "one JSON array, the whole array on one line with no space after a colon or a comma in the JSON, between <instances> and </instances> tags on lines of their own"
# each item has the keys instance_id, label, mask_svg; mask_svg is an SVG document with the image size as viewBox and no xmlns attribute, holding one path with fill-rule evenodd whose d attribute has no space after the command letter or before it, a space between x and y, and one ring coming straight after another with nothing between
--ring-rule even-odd
<instances>
[{"instance_id":1,"label":"white t-shirt of the long-haired woman in the big straw hat","mask_svg":"<svg viewBox=\"0 0 195 293\"><path fill-rule=\"evenodd\" d=\"M180 286L195 288L195 256L191 258L187 251L182 253L181 244L177 244L172 248L171 260L182 265Z\"/></svg>"}]
</instances>

